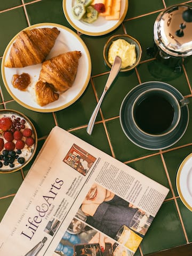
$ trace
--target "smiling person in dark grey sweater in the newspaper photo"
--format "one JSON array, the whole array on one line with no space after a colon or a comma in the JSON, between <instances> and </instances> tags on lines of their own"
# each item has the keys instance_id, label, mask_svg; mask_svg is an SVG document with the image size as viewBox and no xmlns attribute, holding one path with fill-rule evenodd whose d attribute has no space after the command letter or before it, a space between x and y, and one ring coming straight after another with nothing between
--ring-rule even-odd
<instances>
[{"instance_id":1,"label":"smiling person in dark grey sweater in the newspaper photo","mask_svg":"<svg viewBox=\"0 0 192 256\"><path fill-rule=\"evenodd\" d=\"M147 231L138 232L132 226L135 217L145 215L145 212L134 207L121 197L118 197L110 190L93 183L81 205L81 210L87 216L86 222L97 228L106 235L116 238L118 231L126 226L131 228L139 236L143 237ZM139 215L138 215L139 213ZM151 223L154 217L149 216L148 222ZM137 222L137 220L136 220ZM150 226L150 225L149 225Z\"/></svg>"}]
</instances>

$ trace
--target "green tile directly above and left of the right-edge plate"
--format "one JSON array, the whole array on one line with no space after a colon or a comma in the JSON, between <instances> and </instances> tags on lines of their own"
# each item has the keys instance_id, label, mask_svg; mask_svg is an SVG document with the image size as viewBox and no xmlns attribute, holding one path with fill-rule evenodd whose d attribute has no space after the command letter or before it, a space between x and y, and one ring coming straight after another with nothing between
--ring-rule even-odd
<instances>
[{"instance_id":1,"label":"green tile directly above and left of the right-edge plate","mask_svg":"<svg viewBox=\"0 0 192 256\"><path fill-rule=\"evenodd\" d=\"M174 194L178 196L177 188L176 188L176 177L180 164L182 161L188 156L192 151L192 146L176 149L167 153L164 153L165 164L167 167L167 171L169 172L169 176L171 179L171 184L174 190Z\"/></svg>"}]
</instances>

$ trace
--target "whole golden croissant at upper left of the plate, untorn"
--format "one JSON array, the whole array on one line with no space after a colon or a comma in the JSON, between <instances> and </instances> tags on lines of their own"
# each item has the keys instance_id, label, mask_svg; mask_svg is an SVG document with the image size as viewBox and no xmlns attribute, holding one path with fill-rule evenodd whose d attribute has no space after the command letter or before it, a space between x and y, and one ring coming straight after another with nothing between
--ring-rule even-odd
<instances>
[{"instance_id":1,"label":"whole golden croissant at upper left of the plate, untorn","mask_svg":"<svg viewBox=\"0 0 192 256\"><path fill-rule=\"evenodd\" d=\"M22 30L11 46L7 68L22 68L42 63L51 51L60 31L57 28Z\"/></svg>"}]
</instances>

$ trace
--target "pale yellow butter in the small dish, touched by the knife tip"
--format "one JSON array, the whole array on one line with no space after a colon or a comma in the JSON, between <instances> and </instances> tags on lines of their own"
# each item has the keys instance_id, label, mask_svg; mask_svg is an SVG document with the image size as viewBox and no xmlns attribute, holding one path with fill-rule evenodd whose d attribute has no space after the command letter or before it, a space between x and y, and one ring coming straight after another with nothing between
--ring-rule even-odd
<instances>
[{"instance_id":1,"label":"pale yellow butter in the small dish, touched by the knife tip","mask_svg":"<svg viewBox=\"0 0 192 256\"><path fill-rule=\"evenodd\" d=\"M109 47L108 61L111 65L116 55L122 59L121 68L132 66L137 60L135 45L128 43L125 39L117 39Z\"/></svg>"}]
</instances>

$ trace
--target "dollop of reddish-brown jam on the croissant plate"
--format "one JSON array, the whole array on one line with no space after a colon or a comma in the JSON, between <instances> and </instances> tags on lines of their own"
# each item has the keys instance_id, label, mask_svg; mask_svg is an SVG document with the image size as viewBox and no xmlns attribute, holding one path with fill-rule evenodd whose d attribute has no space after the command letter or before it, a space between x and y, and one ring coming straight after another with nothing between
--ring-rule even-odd
<instances>
[{"instance_id":1,"label":"dollop of reddish-brown jam on the croissant plate","mask_svg":"<svg viewBox=\"0 0 192 256\"><path fill-rule=\"evenodd\" d=\"M26 91L27 86L30 84L30 76L27 73L21 75L13 75L12 85L20 91Z\"/></svg>"}]
</instances>

